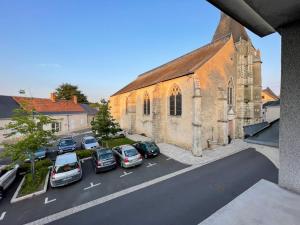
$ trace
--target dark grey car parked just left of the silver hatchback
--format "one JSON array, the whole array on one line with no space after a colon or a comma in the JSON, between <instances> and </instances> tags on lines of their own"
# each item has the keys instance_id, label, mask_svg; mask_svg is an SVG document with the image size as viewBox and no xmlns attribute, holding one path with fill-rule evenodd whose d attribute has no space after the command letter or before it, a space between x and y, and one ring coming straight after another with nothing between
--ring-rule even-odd
<instances>
[{"instance_id":1,"label":"dark grey car parked just left of the silver hatchback","mask_svg":"<svg viewBox=\"0 0 300 225\"><path fill-rule=\"evenodd\" d=\"M97 148L92 154L92 164L95 173L116 168L117 162L113 151L107 148Z\"/></svg>"}]
</instances>

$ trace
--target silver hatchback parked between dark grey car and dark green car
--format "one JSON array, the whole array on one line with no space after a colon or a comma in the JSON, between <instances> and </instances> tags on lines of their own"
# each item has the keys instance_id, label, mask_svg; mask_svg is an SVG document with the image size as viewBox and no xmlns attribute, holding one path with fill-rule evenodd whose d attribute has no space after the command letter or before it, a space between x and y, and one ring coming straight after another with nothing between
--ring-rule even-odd
<instances>
[{"instance_id":1,"label":"silver hatchback parked between dark grey car and dark green car","mask_svg":"<svg viewBox=\"0 0 300 225\"><path fill-rule=\"evenodd\" d=\"M113 148L117 162L124 168L143 163L141 154L132 145L121 145Z\"/></svg>"}]
</instances>

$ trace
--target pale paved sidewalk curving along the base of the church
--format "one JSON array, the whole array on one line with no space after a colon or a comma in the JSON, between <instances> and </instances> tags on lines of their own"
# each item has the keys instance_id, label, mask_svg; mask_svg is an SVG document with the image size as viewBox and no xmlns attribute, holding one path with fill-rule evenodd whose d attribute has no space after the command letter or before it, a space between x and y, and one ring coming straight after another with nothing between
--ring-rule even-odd
<instances>
[{"instance_id":1,"label":"pale paved sidewalk curving along the base of the church","mask_svg":"<svg viewBox=\"0 0 300 225\"><path fill-rule=\"evenodd\" d=\"M144 137L138 134L128 135L129 139L134 141L149 141L151 138ZM238 153L248 148L255 148L256 151L265 155L272 163L279 168L279 150L278 148L267 147L263 145L250 144L246 143L241 139L235 139L230 145L219 146L213 150L203 150L202 157L195 157L192 155L191 151L182 149L178 146L167 144L167 143L158 143L161 153L166 155L169 158L172 158L178 162L187 164L187 165L201 165L207 164L218 159L230 156L232 154Z\"/></svg>"}]
</instances>

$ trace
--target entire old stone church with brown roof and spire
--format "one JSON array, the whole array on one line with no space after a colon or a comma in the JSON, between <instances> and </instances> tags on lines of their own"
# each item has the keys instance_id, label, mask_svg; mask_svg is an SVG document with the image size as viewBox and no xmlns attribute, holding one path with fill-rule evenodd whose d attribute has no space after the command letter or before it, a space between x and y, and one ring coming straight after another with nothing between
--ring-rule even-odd
<instances>
[{"instance_id":1,"label":"entire old stone church with brown roof and spire","mask_svg":"<svg viewBox=\"0 0 300 225\"><path fill-rule=\"evenodd\" d=\"M261 122L260 51L222 14L210 43L139 75L110 105L123 129L200 156Z\"/></svg>"}]
</instances>

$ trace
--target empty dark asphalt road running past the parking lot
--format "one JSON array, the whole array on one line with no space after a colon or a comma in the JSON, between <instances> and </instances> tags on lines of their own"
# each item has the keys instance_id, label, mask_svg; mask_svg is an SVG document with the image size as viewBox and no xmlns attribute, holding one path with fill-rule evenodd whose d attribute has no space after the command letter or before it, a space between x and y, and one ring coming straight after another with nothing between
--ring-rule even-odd
<instances>
[{"instance_id":1,"label":"empty dark asphalt road running past the parking lot","mask_svg":"<svg viewBox=\"0 0 300 225\"><path fill-rule=\"evenodd\" d=\"M196 225L260 179L277 177L277 168L249 149L51 224Z\"/></svg>"}]
</instances>

